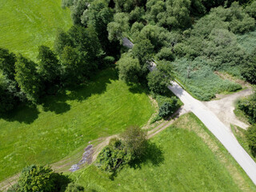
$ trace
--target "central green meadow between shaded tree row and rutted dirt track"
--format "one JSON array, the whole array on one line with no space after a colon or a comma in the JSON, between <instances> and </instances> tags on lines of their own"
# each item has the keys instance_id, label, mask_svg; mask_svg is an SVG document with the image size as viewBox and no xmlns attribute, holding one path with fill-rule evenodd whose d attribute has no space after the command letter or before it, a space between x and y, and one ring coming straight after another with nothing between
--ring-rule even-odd
<instances>
[{"instance_id":1,"label":"central green meadow between shaded tree row and rutted dirt track","mask_svg":"<svg viewBox=\"0 0 256 192\"><path fill-rule=\"evenodd\" d=\"M0 181L26 165L57 162L126 126L142 126L153 113L142 88L117 80L112 69L41 106L20 106L0 118Z\"/></svg>"}]
</instances>

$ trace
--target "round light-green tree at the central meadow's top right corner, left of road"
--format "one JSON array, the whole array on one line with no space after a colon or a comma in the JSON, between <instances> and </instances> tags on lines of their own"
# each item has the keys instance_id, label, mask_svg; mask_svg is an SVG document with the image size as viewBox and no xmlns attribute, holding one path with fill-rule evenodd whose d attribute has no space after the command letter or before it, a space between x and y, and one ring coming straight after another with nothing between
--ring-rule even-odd
<instances>
[{"instance_id":1,"label":"round light-green tree at the central meadow's top right corner, left of road","mask_svg":"<svg viewBox=\"0 0 256 192\"><path fill-rule=\"evenodd\" d=\"M138 82L141 74L138 58L132 58L129 54L122 54L122 58L117 64L120 79L126 82Z\"/></svg>"}]
</instances>

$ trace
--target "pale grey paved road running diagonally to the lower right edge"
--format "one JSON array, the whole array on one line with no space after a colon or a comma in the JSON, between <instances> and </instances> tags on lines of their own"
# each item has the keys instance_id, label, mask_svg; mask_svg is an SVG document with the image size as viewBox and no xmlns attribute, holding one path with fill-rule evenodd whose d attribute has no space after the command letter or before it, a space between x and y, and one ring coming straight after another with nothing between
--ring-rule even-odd
<instances>
[{"instance_id":1,"label":"pale grey paved road running diagonally to the lower right edge","mask_svg":"<svg viewBox=\"0 0 256 192\"><path fill-rule=\"evenodd\" d=\"M256 185L256 163L246 150L240 146L234 134L226 127L217 116L211 112L202 102L193 98L183 90L177 82L171 82L172 86L168 88L182 100L186 110L191 110L205 126L214 134L216 138L226 147L226 150L234 157L238 164L245 170L246 174Z\"/></svg>"}]
</instances>

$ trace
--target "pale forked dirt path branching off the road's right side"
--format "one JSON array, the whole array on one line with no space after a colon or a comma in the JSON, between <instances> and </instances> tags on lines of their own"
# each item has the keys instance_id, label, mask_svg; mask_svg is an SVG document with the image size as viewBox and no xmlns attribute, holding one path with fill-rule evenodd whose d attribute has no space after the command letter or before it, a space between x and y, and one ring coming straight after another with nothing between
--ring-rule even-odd
<instances>
[{"instance_id":1,"label":"pale forked dirt path branching off the road's right side","mask_svg":"<svg viewBox=\"0 0 256 192\"><path fill-rule=\"evenodd\" d=\"M242 90L234 94L225 95L219 100L214 100L210 102L203 102L209 110L211 110L225 126L230 127L230 124L240 126L242 129L246 129L248 125L241 122L234 114L234 102L238 98L242 98L252 94L252 90Z\"/></svg>"}]
</instances>

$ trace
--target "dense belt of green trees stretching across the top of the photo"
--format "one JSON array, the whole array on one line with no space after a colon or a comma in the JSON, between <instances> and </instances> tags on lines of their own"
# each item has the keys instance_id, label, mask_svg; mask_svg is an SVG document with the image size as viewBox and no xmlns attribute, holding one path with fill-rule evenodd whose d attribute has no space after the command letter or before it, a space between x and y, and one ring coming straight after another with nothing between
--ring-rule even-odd
<instances>
[{"instance_id":1,"label":"dense belt of green trees stretching across the top of the photo","mask_svg":"<svg viewBox=\"0 0 256 192\"><path fill-rule=\"evenodd\" d=\"M119 58L119 77L146 83L155 94L166 91L174 76L171 62L180 57L205 57L213 60L213 68L241 63L242 76L255 82L255 53L239 50L232 35L254 30L256 2L239 3L244 6L231 0L62 0L74 26L58 31L54 50L40 46L38 62L0 50L0 111L19 102L38 103L63 86L90 79L92 72ZM128 52L121 46L126 36L135 43ZM149 73L152 57L158 70Z\"/></svg>"}]
</instances>

